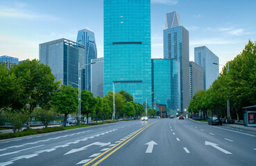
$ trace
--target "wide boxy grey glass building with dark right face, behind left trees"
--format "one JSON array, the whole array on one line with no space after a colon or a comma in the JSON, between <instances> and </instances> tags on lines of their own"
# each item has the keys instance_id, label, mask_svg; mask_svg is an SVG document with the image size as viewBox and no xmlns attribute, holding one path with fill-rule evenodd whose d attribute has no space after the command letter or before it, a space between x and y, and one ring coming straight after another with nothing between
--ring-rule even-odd
<instances>
[{"instance_id":1,"label":"wide boxy grey glass building with dark right face, behind left trees","mask_svg":"<svg viewBox=\"0 0 256 166\"><path fill-rule=\"evenodd\" d=\"M51 67L51 73L61 84L78 88L78 63L85 64L85 46L68 39L57 39L39 45L39 59ZM85 77L81 77L82 90Z\"/></svg>"}]
</instances>

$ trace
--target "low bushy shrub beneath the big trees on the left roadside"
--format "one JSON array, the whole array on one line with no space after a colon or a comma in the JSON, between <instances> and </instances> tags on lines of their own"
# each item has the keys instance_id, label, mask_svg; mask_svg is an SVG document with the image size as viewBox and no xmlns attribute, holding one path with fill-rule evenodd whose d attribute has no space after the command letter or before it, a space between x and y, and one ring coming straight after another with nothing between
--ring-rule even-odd
<instances>
[{"instance_id":1,"label":"low bushy shrub beneath the big trees on the left roadside","mask_svg":"<svg viewBox=\"0 0 256 166\"><path fill-rule=\"evenodd\" d=\"M38 118L42 122L42 124L44 124L44 127L47 128L49 123L56 118L57 113L53 109L46 110L42 108L35 108L33 116L35 116L35 118Z\"/></svg>"}]
</instances>

